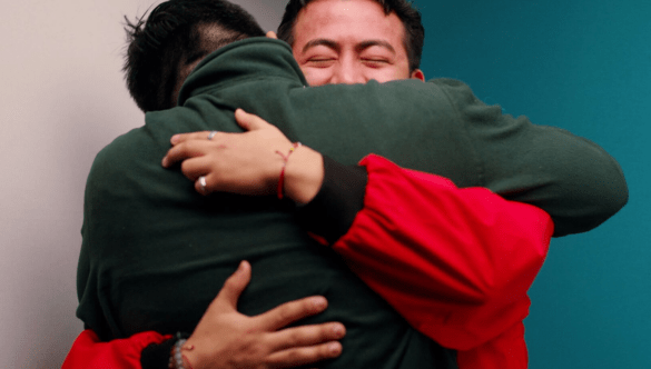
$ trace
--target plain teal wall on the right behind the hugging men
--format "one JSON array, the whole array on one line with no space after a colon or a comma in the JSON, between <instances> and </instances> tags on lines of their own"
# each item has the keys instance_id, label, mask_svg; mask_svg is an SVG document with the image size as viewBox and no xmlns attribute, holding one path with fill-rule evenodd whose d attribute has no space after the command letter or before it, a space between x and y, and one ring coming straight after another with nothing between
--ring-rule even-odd
<instances>
[{"instance_id":1,"label":"plain teal wall on the right behind the hugging men","mask_svg":"<svg viewBox=\"0 0 651 369\"><path fill-rule=\"evenodd\" d=\"M552 241L530 293L530 368L651 368L651 2L415 3L427 78L598 142L629 183L615 217Z\"/></svg>"}]
</instances>

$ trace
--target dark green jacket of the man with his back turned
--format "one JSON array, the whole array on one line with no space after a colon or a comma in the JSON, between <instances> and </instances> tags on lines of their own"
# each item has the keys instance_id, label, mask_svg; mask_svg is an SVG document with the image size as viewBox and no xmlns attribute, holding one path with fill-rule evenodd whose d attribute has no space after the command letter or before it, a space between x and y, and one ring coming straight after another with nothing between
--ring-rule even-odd
<instances>
[{"instance_id":1,"label":"dark green jacket of the man with his back turned","mask_svg":"<svg viewBox=\"0 0 651 369\"><path fill-rule=\"evenodd\" d=\"M345 164L375 152L460 187L533 203L552 216L556 236L596 227L628 197L619 166L596 144L503 116L458 81L307 88L285 43L238 41L201 61L179 107L147 113L144 127L117 138L93 162L77 313L100 338L191 332L224 280L248 260L244 313L312 295L328 299L326 312L308 321L341 321L347 336L342 357L324 367L455 367L454 352L416 332L306 236L290 203L201 197L178 168L161 167L174 133L240 131L236 108Z\"/></svg>"}]
</instances>

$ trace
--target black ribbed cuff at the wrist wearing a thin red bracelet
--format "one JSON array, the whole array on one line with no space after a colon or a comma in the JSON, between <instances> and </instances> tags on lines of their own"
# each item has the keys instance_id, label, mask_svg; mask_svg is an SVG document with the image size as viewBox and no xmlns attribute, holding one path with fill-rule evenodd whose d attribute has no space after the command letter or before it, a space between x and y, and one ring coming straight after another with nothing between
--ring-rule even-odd
<instances>
[{"instance_id":1,"label":"black ribbed cuff at the wrist wearing a thin red bracelet","mask_svg":"<svg viewBox=\"0 0 651 369\"><path fill-rule=\"evenodd\" d=\"M346 235L364 208L368 173L361 166L344 166L323 156L324 179L316 197L297 209L298 221L331 245Z\"/></svg>"}]
</instances>

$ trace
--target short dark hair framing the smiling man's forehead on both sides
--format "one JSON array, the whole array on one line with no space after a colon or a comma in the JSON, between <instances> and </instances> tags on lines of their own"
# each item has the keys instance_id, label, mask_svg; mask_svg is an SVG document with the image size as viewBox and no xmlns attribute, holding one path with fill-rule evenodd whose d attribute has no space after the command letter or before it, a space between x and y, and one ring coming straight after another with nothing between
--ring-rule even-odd
<instances>
[{"instance_id":1,"label":"short dark hair framing the smiling man's forehead on both sides","mask_svg":"<svg viewBox=\"0 0 651 369\"><path fill-rule=\"evenodd\" d=\"M285 8L285 14L278 26L278 39L294 44L294 26L300 9L305 8L314 0L289 0ZM425 28L421 21L421 12L415 9L411 1L406 0L373 0L384 8L384 13L389 14L395 11L396 16L405 27L405 49L410 60L410 72L421 67L423 54L423 43L425 41Z\"/></svg>"}]
</instances>

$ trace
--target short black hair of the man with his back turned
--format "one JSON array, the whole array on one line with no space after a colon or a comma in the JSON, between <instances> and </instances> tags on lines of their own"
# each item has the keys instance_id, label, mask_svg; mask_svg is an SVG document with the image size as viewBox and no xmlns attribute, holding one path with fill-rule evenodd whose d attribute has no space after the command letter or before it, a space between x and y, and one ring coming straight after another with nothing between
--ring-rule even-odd
<instances>
[{"instance_id":1,"label":"short black hair of the man with his back turned","mask_svg":"<svg viewBox=\"0 0 651 369\"><path fill-rule=\"evenodd\" d=\"M176 106L179 78L187 77L179 76L179 63L198 58L199 26L219 30L219 42L210 51L236 40L265 36L253 16L225 0L169 0L157 6L147 20L145 16L135 22L125 19L125 79L145 112Z\"/></svg>"}]
</instances>

